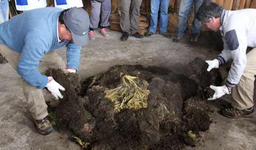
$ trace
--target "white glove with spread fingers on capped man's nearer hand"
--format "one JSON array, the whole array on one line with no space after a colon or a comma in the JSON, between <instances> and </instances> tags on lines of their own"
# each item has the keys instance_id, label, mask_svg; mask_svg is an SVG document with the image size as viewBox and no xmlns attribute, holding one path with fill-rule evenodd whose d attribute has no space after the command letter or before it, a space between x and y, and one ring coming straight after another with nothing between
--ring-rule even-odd
<instances>
[{"instance_id":1,"label":"white glove with spread fingers on capped man's nearer hand","mask_svg":"<svg viewBox=\"0 0 256 150\"><path fill-rule=\"evenodd\" d=\"M53 96L58 100L59 97L63 98L63 95L60 93L59 89L62 91L65 91L65 88L63 88L60 84L58 84L52 76L48 76L49 82L46 84L46 88L53 94Z\"/></svg>"}]
</instances>

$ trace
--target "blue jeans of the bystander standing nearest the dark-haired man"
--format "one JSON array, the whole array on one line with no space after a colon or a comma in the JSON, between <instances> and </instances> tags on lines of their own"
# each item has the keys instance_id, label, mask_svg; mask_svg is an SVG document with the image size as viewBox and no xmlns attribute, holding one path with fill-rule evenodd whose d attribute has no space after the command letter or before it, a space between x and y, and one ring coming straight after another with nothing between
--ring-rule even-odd
<instances>
[{"instance_id":1,"label":"blue jeans of the bystander standing nearest the dark-haired man","mask_svg":"<svg viewBox=\"0 0 256 150\"><path fill-rule=\"evenodd\" d=\"M187 27L187 16L190 11L190 7L194 2L194 20L191 25L191 33L200 34L201 22L195 17L199 7L203 3L203 0L181 0L178 14L178 26L176 27L176 35L183 36Z\"/></svg>"}]
</instances>

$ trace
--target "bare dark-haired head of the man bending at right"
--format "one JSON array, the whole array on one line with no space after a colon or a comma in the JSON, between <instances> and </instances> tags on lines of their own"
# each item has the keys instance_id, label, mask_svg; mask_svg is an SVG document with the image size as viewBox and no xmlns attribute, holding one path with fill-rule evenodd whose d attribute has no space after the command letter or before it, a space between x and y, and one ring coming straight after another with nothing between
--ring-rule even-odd
<instances>
[{"instance_id":1,"label":"bare dark-haired head of the man bending at right","mask_svg":"<svg viewBox=\"0 0 256 150\"><path fill-rule=\"evenodd\" d=\"M203 2L196 13L196 18L209 29L218 31L221 27L223 7L214 2Z\"/></svg>"}]
</instances>

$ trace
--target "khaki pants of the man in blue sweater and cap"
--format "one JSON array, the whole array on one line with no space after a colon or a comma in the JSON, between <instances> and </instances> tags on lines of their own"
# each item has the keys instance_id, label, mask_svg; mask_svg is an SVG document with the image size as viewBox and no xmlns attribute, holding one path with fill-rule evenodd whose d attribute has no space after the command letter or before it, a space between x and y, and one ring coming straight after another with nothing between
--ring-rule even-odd
<instances>
[{"instance_id":1,"label":"khaki pants of the man in blue sweater and cap","mask_svg":"<svg viewBox=\"0 0 256 150\"><path fill-rule=\"evenodd\" d=\"M0 53L2 53L11 66L16 70L21 54L13 51L4 44L0 44ZM64 61L55 51L44 54L40 60L40 65L42 63L48 67L66 68ZM46 117L48 115L47 105L44 101L42 90L28 84L24 79L22 81L22 88L28 103L28 109L30 110L33 119L43 119Z\"/></svg>"}]
</instances>

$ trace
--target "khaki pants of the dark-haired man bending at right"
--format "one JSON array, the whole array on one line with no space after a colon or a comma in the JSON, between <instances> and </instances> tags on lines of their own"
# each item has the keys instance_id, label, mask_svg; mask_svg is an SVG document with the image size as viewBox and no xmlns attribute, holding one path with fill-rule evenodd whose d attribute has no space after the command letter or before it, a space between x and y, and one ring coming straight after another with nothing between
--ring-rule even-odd
<instances>
[{"instance_id":1,"label":"khaki pants of the dark-haired man bending at right","mask_svg":"<svg viewBox=\"0 0 256 150\"><path fill-rule=\"evenodd\" d=\"M256 48L246 54L247 65L239 83L232 88L231 106L243 110L254 106L253 88L256 75Z\"/></svg>"}]
</instances>

